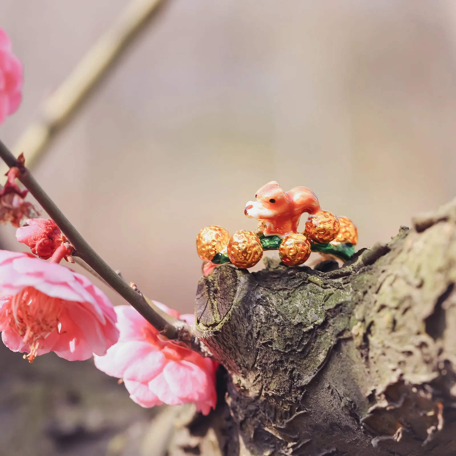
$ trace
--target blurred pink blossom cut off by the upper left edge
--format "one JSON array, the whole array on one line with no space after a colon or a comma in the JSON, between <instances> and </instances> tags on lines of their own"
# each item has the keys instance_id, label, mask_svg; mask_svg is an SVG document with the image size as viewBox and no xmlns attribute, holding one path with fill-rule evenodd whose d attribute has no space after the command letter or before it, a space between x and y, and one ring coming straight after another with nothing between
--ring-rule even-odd
<instances>
[{"instance_id":1,"label":"blurred pink blossom cut off by the upper left edge","mask_svg":"<svg viewBox=\"0 0 456 456\"><path fill-rule=\"evenodd\" d=\"M16 112L22 99L22 63L11 53L11 42L0 28L0 124Z\"/></svg>"}]
</instances>

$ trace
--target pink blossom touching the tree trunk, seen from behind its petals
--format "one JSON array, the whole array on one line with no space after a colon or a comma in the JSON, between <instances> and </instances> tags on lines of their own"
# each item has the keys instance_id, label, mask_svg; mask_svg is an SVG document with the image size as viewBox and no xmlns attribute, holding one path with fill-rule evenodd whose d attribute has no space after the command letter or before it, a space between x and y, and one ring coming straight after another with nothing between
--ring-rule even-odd
<instances>
[{"instance_id":1,"label":"pink blossom touching the tree trunk, seen from behind its petals","mask_svg":"<svg viewBox=\"0 0 456 456\"><path fill-rule=\"evenodd\" d=\"M163 311L176 311L153 301ZM143 407L194 402L207 415L215 408L215 371L218 364L162 337L130 306L116 306L119 341L105 356L95 356L98 369L123 378L130 398ZM192 319L194 316L181 316Z\"/></svg>"}]
</instances>

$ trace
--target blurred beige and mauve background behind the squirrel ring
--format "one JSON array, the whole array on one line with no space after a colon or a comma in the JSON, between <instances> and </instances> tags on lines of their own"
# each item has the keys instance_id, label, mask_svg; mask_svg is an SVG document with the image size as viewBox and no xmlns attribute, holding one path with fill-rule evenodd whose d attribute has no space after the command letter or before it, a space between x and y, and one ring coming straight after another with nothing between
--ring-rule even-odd
<instances>
[{"instance_id":1,"label":"blurred beige and mauve background behind the squirrel ring","mask_svg":"<svg viewBox=\"0 0 456 456\"><path fill-rule=\"evenodd\" d=\"M13 145L126 0L3 0L25 66ZM456 7L448 1L174 0L36 168L114 269L191 311L199 229L252 229L275 179L386 241L456 194ZM2 229L9 249L20 248ZM120 300L112 293L116 303Z\"/></svg>"}]
</instances>

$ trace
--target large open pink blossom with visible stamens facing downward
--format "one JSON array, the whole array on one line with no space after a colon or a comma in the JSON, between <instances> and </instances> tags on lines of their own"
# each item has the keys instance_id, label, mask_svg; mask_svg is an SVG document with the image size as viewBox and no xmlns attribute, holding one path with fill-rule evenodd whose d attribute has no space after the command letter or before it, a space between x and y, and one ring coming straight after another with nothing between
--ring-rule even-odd
<instances>
[{"instance_id":1,"label":"large open pink blossom with visible stamens facing downward","mask_svg":"<svg viewBox=\"0 0 456 456\"><path fill-rule=\"evenodd\" d=\"M104 355L117 342L116 315L104 293L83 275L0 250L0 331L29 361L56 352L69 361Z\"/></svg>"}]
</instances>

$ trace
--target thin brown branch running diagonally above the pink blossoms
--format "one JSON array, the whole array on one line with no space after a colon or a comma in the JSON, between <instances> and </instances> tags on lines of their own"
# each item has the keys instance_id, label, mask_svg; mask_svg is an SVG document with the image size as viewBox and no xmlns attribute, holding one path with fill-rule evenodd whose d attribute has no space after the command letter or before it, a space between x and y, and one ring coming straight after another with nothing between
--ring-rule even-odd
<instances>
[{"instance_id":1,"label":"thin brown branch running diagonally above the pink blossoms","mask_svg":"<svg viewBox=\"0 0 456 456\"><path fill-rule=\"evenodd\" d=\"M20 165L15 156L8 148L0 141L0 157L9 167ZM36 201L41 204L41 207L49 214L49 216L57 223L57 226L62 230L68 240L71 242L78 256L83 259L93 270L100 275L125 301L131 304L149 323L160 331L169 339L178 337L178 331L171 321L168 321L158 312L156 312L144 297L133 290L109 265L102 259L95 250L90 247L87 241L79 234L78 230L70 223L62 211L41 188L30 171L23 167L20 168L21 174L19 180L30 193L35 197Z\"/></svg>"}]
</instances>

